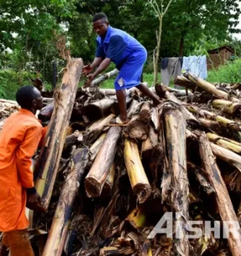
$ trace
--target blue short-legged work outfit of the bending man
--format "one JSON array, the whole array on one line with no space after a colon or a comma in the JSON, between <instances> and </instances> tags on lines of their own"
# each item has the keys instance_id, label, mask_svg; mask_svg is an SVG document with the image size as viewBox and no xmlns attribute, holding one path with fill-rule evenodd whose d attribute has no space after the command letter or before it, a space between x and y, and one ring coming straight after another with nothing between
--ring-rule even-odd
<instances>
[{"instance_id":1,"label":"blue short-legged work outfit of the bending man","mask_svg":"<svg viewBox=\"0 0 241 256\"><path fill-rule=\"evenodd\" d=\"M96 46L96 57L109 58L120 70L115 80L116 91L139 86L148 53L137 39L109 26L104 38L97 37Z\"/></svg>"}]
</instances>

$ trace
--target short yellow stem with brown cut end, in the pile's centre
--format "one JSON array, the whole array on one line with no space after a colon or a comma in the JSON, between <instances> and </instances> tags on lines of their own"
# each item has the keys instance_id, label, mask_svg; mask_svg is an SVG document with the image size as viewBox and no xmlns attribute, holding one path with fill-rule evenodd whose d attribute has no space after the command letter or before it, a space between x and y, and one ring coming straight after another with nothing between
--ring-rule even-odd
<instances>
[{"instance_id":1,"label":"short yellow stem with brown cut end, in the pile's centre","mask_svg":"<svg viewBox=\"0 0 241 256\"><path fill-rule=\"evenodd\" d=\"M148 197L150 197L151 188L139 157L137 143L126 139L124 159L132 190L137 195L139 203L145 203Z\"/></svg>"}]
</instances>

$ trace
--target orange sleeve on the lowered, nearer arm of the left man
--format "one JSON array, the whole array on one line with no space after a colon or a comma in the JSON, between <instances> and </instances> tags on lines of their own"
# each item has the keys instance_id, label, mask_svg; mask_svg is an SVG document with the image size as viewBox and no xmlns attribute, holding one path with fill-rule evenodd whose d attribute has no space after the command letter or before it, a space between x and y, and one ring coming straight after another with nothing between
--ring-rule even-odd
<instances>
[{"instance_id":1,"label":"orange sleeve on the lowered, nearer arm of the left man","mask_svg":"<svg viewBox=\"0 0 241 256\"><path fill-rule=\"evenodd\" d=\"M31 157L34 156L39 140L41 139L41 128L29 127L26 129L25 138L16 151L16 164L21 184L25 188L34 187L34 177L31 171Z\"/></svg>"}]
</instances>

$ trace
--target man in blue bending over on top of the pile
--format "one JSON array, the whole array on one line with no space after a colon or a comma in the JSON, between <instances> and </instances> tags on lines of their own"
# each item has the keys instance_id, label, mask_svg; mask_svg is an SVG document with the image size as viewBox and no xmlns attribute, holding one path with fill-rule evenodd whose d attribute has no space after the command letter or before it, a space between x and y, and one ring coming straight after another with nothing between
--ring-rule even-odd
<instances>
[{"instance_id":1,"label":"man in blue bending over on top of the pile","mask_svg":"<svg viewBox=\"0 0 241 256\"><path fill-rule=\"evenodd\" d=\"M96 14L93 17L93 29L98 34L96 57L91 65L83 68L85 75L90 74L84 87L90 86L93 79L107 69L111 61L114 62L116 68L120 70L118 78L115 80L120 116L112 120L110 125L126 126L129 122L126 114L126 89L137 87L142 94L152 99L155 105L160 103L158 97L140 81L143 65L147 59L147 51L137 39L125 31L112 28L104 13ZM96 67L98 68L96 69ZM96 69L95 72L93 72L94 69Z\"/></svg>"}]
</instances>

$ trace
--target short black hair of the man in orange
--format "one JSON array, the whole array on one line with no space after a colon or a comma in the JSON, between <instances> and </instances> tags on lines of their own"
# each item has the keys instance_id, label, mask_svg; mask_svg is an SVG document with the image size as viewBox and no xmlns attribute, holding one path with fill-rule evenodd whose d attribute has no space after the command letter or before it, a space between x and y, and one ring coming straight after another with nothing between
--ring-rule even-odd
<instances>
[{"instance_id":1,"label":"short black hair of the man in orange","mask_svg":"<svg viewBox=\"0 0 241 256\"><path fill-rule=\"evenodd\" d=\"M31 108L34 99L37 99L34 86L23 86L16 93L16 100L21 108Z\"/></svg>"}]
</instances>

